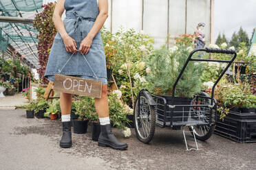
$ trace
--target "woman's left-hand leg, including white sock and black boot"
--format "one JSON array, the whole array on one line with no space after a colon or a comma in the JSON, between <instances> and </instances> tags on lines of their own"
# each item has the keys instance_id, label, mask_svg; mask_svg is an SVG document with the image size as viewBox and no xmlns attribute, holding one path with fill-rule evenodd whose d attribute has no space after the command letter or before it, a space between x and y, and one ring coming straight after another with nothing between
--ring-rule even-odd
<instances>
[{"instance_id":1,"label":"woman's left-hand leg, including white sock and black boot","mask_svg":"<svg viewBox=\"0 0 256 170\"><path fill-rule=\"evenodd\" d=\"M63 135L61 137L61 147L72 146L70 112L72 108L72 94L61 93L61 121L63 126Z\"/></svg>"}]
</instances>

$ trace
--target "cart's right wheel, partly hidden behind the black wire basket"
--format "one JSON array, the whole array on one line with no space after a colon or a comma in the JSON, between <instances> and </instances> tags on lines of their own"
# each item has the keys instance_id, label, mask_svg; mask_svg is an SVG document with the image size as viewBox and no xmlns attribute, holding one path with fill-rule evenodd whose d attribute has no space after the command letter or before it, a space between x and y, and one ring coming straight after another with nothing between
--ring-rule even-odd
<instances>
[{"instance_id":1,"label":"cart's right wheel, partly hidden behind the black wire basket","mask_svg":"<svg viewBox=\"0 0 256 170\"><path fill-rule=\"evenodd\" d=\"M200 93L200 96L210 97L207 93ZM213 101L215 104L215 101ZM211 99L206 99L202 97L195 97L191 101L191 105L195 104L203 104L203 105L209 105L211 104ZM213 110L214 112L214 110ZM191 107L189 110L189 116L190 117L198 117L198 120L204 121L206 123L209 123L210 121L210 108L205 107ZM214 119L214 114L212 114L212 117ZM193 135L193 130L195 130L195 138L206 141L211 137L211 135L214 132L215 125L191 125L189 127L189 130L191 131L191 134Z\"/></svg>"}]
</instances>

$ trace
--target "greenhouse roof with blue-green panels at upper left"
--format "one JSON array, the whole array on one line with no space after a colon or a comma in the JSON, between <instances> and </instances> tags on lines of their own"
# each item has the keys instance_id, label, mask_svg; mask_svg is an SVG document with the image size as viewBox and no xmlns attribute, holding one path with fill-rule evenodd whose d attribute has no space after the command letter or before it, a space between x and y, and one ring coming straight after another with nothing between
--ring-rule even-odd
<instances>
[{"instance_id":1,"label":"greenhouse roof with blue-green panels at upper left","mask_svg":"<svg viewBox=\"0 0 256 170\"><path fill-rule=\"evenodd\" d=\"M43 0L0 0L0 15L34 19L42 11ZM25 58L23 62L38 67L36 34L32 23L0 23L0 50L5 58ZM1 54L3 55L3 53Z\"/></svg>"}]
</instances>

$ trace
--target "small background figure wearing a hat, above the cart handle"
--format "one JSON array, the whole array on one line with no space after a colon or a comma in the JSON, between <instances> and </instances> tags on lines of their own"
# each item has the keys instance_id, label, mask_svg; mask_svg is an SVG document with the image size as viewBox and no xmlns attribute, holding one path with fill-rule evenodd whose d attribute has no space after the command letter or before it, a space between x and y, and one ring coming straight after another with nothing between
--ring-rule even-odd
<instances>
[{"instance_id":1,"label":"small background figure wearing a hat, above the cart handle","mask_svg":"<svg viewBox=\"0 0 256 170\"><path fill-rule=\"evenodd\" d=\"M204 26L205 23L198 23L195 30L195 49L202 49L205 45L204 38ZM200 53L199 58L202 58L202 53Z\"/></svg>"}]
</instances>

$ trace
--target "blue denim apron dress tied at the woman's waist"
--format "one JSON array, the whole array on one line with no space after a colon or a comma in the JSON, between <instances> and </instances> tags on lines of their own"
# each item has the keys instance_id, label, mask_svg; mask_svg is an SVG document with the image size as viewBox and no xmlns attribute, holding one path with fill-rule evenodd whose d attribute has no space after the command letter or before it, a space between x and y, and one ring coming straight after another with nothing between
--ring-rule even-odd
<instances>
[{"instance_id":1,"label":"blue denim apron dress tied at the woman's waist","mask_svg":"<svg viewBox=\"0 0 256 170\"><path fill-rule=\"evenodd\" d=\"M76 41L77 49L79 49L81 41L92 29L99 14L97 0L65 0L64 7L66 10L66 18L63 20L65 29L67 34ZM55 74L71 75L100 80L103 84L107 84L106 58L100 32L92 40L89 53L85 55L87 61L79 51L72 58L70 56L72 53L66 51L63 39L57 33L50 51L45 77L54 82Z\"/></svg>"}]
</instances>

